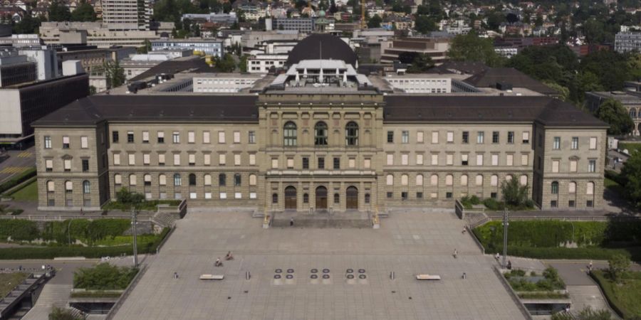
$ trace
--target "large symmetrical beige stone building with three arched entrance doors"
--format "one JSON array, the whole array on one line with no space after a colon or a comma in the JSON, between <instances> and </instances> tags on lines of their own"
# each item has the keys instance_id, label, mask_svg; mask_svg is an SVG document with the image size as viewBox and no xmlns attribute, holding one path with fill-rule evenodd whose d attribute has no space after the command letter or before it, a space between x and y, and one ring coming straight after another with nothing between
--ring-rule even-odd
<instances>
[{"instance_id":1,"label":"large symmetrical beige stone building with three arched entrance doors","mask_svg":"<svg viewBox=\"0 0 641 320\"><path fill-rule=\"evenodd\" d=\"M517 88L383 92L343 41L317 40L332 53L295 48L258 94L112 92L38 120L38 207L98 209L127 188L267 212L452 208L509 179L545 210L603 206L598 119Z\"/></svg>"}]
</instances>

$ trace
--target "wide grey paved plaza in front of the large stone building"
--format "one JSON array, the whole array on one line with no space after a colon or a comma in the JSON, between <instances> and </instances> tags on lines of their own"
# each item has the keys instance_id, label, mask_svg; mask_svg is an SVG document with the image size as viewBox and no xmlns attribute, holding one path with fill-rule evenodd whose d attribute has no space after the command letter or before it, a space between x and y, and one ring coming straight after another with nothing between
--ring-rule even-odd
<instances>
[{"instance_id":1,"label":"wide grey paved plaza in front of the large stone building","mask_svg":"<svg viewBox=\"0 0 641 320\"><path fill-rule=\"evenodd\" d=\"M378 230L262 229L261 222L249 212L187 214L115 319L523 319L493 259L453 214L392 213ZM214 267L228 250L236 259ZM348 269L355 279L345 277ZM424 273L442 280L415 279Z\"/></svg>"}]
</instances>

